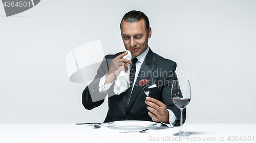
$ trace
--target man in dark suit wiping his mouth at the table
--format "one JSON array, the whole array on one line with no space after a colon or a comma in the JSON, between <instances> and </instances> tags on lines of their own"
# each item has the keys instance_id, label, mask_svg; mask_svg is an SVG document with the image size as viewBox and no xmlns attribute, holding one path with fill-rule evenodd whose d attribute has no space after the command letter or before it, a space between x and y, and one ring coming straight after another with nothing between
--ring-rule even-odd
<instances>
[{"instance_id":1,"label":"man in dark suit wiping his mouth at the table","mask_svg":"<svg viewBox=\"0 0 256 143\"><path fill-rule=\"evenodd\" d=\"M162 58L148 47L152 29L143 12L126 13L121 20L120 29L125 49L129 50L132 58L136 60L132 60L133 63L122 59L127 51L106 55L94 80L83 91L83 106L93 109L101 105L108 95L109 110L104 122L144 120L161 122L169 127L179 126L180 110L174 105L170 95L172 80L177 79L176 63ZM132 78L134 81L131 81L133 84L124 93L115 95L114 79L121 70L129 71L133 68L131 66L129 69L126 64L134 64L136 68L135 77ZM150 89L149 97L146 97L143 88L138 84L141 79L147 79L148 84L155 85L155 88ZM184 122L185 114L184 109Z\"/></svg>"}]
</instances>

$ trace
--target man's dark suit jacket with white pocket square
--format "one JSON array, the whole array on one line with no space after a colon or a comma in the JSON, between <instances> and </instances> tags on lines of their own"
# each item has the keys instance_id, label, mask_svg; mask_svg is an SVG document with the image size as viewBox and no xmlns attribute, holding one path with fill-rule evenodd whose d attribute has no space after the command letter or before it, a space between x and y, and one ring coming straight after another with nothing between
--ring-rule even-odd
<instances>
[{"instance_id":1,"label":"man's dark suit jacket with white pocket square","mask_svg":"<svg viewBox=\"0 0 256 143\"><path fill-rule=\"evenodd\" d=\"M86 109L93 109L104 102L105 96L109 96L109 110L104 122L122 121L122 120L142 120L152 121L152 118L148 115L147 105L145 104L146 95L143 88L138 84L139 80L147 79L148 86L156 84L156 88L150 89L150 97L155 98L163 102L166 107L172 110L176 116L174 126L180 125L180 109L177 108L170 95L172 80L177 79L175 70L176 63L162 58L158 54L154 53L151 49L148 51L146 58L141 66L139 75L134 85L134 89L131 95L130 103L127 106L127 91L115 95L113 92L114 84L112 84L108 93L99 93L99 80L105 75L111 64L112 59L117 55L106 55L103 59L94 80L86 87L82 93L82 104ZM186 109L183 109L183 122L186 118Z\"/></svg>"}]
</instances>

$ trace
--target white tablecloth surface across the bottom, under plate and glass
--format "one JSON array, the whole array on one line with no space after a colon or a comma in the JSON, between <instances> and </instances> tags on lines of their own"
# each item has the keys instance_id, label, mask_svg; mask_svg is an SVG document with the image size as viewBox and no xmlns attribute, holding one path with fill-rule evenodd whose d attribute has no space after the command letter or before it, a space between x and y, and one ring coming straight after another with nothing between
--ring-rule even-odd
<instances>
[{"instance_id":1,"label":"white tablecloth surface across the bottom, under plate and glass","mask_svg":"<svg viewBox=\"0 0 256 143\"><path fill-rule=\"evenodd\" d=\"M75 124L0 124L0 142L256 142L256 124L184 124L191 135L173 136L179 130L161 124L145 133Z\"/></svg>"}]
</instances>

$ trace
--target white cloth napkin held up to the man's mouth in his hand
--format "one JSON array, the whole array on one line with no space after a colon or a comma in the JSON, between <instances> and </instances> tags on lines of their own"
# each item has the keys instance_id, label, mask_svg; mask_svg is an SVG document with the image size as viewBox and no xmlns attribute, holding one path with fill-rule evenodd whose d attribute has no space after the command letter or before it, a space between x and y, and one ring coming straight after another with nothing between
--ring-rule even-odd
<instances>
[{"instance_id":1,"label":"white cloth napkin held up to the man's mouth in his hand","mask_svg":"<svg viewBox=\"0 0 256 143\"><path fill-rule=\"evenodd\" d=\"M129 50L128 53L123 56L122 59L132 60L132 54ZM126 63L127 67L130 69L130 64ZM121 70L119 74L115 78L115 85L114 85L114 92L116 95L120 95L121 93L125 92L127 89L130 88L130 70L126 72Z\"/></svg>"}]
</instances>

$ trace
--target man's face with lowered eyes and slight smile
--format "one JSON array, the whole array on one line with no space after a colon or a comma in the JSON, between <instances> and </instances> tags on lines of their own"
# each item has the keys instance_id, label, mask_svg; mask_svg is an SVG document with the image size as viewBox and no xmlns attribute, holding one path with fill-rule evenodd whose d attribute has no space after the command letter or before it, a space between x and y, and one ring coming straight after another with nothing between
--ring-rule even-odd
<instances>
[{"instance_id":1,"label":"man's face with lowered eyes and slight smile","mask_svg":"<svg viewBox=\"0 0 256 143\"><path fill-rule=\"evenodd\" d=\"M138 56L147 48L148 38L151 37L151 28L146 33L145 21L140 19L135 23L122 21L121 36L126 50L132 53L132 56Z\"/></svg>"}]
</instances>

